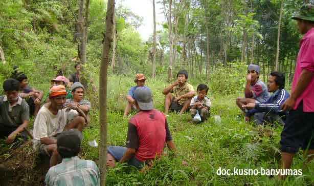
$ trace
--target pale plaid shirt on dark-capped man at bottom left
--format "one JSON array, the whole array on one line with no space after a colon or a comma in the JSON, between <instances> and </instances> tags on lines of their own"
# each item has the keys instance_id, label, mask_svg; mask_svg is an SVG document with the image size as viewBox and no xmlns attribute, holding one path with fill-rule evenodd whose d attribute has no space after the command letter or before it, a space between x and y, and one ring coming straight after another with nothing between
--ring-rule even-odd
<instances>
[{"instance_id":1,"label":"pale plaid shirt on dark-capped man at bottom left","mask_svg":"<svg viewBox=\"0 0 314 186\"><path fill-rule=\"evenodd\" d=\"M99 186L100 174L94 161L74 156L51 167L44 182L48 186Z\"/></svg>"}]
</instances>

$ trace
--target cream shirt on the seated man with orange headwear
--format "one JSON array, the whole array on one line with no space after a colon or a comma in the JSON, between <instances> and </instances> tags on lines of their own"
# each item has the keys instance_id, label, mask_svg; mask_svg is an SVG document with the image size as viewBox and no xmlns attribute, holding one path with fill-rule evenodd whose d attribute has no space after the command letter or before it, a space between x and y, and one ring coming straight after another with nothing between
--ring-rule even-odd
<instances>
[{"instance_id":1,"label":"cream shirt on the seated man with orange headwear","mask_svg":"<svg viewBox=\"0 0 314 186\"><path fill-rule=\"evenodd\" d=\"M43 137L52 137L61 133L66 126L78 113L76 110L66 111L62 109L54 115L50 110L42 106L34 121L34 139L40 140Z\"/></svg>"}]
</instances>

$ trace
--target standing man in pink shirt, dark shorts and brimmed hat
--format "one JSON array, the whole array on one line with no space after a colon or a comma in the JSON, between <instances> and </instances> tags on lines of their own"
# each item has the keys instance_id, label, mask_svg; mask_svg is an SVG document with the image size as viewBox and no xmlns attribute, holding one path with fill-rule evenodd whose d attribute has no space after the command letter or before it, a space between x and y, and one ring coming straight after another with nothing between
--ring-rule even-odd
<instances>
[{"instance_id":1,"label":"standing man in pink shirt, dark shorts and brimmed hat","mask_svg":"<svg viewBox=\"0 0 314 186\"><path fill-rule=\"evenodd\" d=\"M297 20L304 36L300 42L291 96L282 105L283 110L290 110L280 140L284 169L290 169L300 147L308 155L307 162L314 158L314 6L304 5L292 18Z\"/></svg>"}]
</instances>

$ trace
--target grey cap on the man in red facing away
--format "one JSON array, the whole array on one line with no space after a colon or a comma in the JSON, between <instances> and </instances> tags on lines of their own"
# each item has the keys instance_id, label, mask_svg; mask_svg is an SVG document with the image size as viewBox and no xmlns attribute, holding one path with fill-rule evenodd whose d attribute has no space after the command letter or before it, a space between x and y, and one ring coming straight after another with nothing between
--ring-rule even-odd
<instances>
[{"instance_id":1,"label":"grey cap on the man in red facing away","mask_svg":"<svg viewBox=\"0 0 314 186\"><path fill-rule=\"evenodd\" d=\"M148 87L138 87L134 91L134 98L141 110L152 110L151 89Z\"/></svg>"}]
</instances>

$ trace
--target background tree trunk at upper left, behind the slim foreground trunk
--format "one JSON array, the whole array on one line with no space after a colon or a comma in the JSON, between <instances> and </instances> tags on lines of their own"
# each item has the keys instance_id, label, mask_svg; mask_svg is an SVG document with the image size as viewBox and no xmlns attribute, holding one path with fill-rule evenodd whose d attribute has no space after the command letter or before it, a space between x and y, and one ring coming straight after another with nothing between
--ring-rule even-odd
<instances>
[{"instance_id":1,"label":"background tree trunk at upper left, behind the slim foreground trunk","mask_svg":"<svg viewBox=\"0 0 314 186\"><path fill-rule=\"evenodd\" d=\"M79 14L78 14L78 31L81 33L80 39L80 62L85 64L86 62L86 32L84 23L84 0L79 1Z\"/></svg>"}]
</instances>

